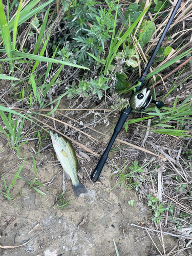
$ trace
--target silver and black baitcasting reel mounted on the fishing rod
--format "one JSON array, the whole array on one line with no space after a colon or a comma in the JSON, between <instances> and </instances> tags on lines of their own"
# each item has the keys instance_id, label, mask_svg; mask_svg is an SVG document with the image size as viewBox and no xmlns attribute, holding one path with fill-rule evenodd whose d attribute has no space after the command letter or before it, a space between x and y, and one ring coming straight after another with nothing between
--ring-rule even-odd
<instances>
[{"instance_id":1,"label":"silver and black baitcasting reel mounted on the fishing rod","mask_svg":"<svg viewBox=\"0 0 192 256\"><path fill-rule=\"evenodd\" d=\"M150 90L147 91L146 88L143 88L139 92L133 94L130 99L130 105L132 109L138 110L140 112L144 111L151 102L156 104L158 109L162 108L164 104L162 101L152 100Z\"/></svg>"}]
</instances>

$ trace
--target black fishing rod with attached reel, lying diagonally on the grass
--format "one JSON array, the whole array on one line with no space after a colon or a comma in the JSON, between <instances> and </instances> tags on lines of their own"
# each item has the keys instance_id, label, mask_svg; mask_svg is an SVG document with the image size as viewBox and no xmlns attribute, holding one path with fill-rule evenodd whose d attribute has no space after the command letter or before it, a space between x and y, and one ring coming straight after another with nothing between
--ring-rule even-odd
<instances>
[{"instance_id":1,"label":"black fishing rod with attached reel, lying diagonally on the grass","mask_svg":"<svg viewBox=\"0 0 192 256\"><path fill-rule=\"evenodd\" d=\"M132 112L132 110L134 109L134 110L138 110L138 111L142 112L142 111L144 111L147 108L147 106L151 102L154 103L157 106L158 109L162 108L162 106L164 104L162 101L155 101L155 100L153 100L152 96L150 95L150 90L147 90L146 88L142 88L142 87L143 87L143 85L145 83L145 78L146 78L146 75L148 73L148 70L150 69L150 67L152 65L152 62L153 62L153 60L154 60L154 58L155 58L155 56L157 54L157 51L158 51L159 47L162 44L162 41L163 41L163 39L165 37L165 34L168 31L168 29L170 27L170 24L172 23L175 15L176 15L177 10L179 9L179 6L180 6L181 2L182 2L182 0L178 0L177 4L176 4L176 6L175 6L175 8L173 10L173 13L170 16L170 18L168 20L168 23L167 23L166 27L164 28L164 31L163 31L163 33L162 33L162 35L161 35L161 37L160 37L160 39L158 41L158 44L157 44L157 46L156 46L156 48L155 48L155 50L154 50L150 60L147 63L147 66L146 66L143 74L137 80L138 83L136 84L136 87L135 87L136 93L135 92L132 93L132 96L130 98L130 106L129 106L129 108L126 107L122 111L122 113L121 113L121 115L119 117L119 120L118 120L118 122L117 122L117 124L115 126L115 129L114 129L113 135L111 137L111 140L110 140L108 146L106 147L105 152L101 156L101 158L100 158L100 160L99 160L99 162L98 162L94 172L91 175L91 179L94 182L98 180L99 175L101 173L101 170L102 170L102 168L103 168L103 166L104 166L104 164L106 162L106 159L108 158L108 154L109 154L109 152L111 150L111 147L112 147L112 145L113 145L117 135L121 131L122 126L125 123L127 117Z\"/></svg>"}]
</instances>

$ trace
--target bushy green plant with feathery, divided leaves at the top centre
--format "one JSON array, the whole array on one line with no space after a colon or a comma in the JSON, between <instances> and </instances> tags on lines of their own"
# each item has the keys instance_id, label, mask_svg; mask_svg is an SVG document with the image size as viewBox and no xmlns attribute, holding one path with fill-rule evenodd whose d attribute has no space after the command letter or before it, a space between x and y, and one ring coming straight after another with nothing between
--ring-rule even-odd
<instances>
[{"instance_id":1,"label":"bushy green plant with feathery, divided leaves at the top centre","mask_svg":"<svg viewBox=\"0 0 192 256\"><path fill-rule=\"evenodd\" d=\"M63 4L66 1L63 1ZM79 64L89 67L94 60L87 52L92 53L97 58L105 48L105 42L111 37L110 33L114 27L115 1L106 1L107 9L101 6L100 2L94 0L74 0L68 6L67 15L67 34L60 38L60 44L70 41L68 50L73 51L73 58ZM66 8L66 4L64 4ZM116 24L117 25L117 24ZM71 60L71 56L69 56Z\"/></svg>"}]
</instances>

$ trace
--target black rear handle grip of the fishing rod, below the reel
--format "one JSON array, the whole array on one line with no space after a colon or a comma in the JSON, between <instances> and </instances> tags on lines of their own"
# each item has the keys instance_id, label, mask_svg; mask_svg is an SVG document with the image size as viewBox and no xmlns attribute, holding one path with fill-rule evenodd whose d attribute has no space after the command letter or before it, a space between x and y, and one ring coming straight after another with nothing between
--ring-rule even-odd
<instances>
[{"instance_id":1,"label":"black rear handle grip of the fishing rod, below the reel","mask_svg":"<svg viewBox=\"0 0 192 256\"><path fill-rule=\"evenodd\" d=\"M94 170L94 172L92 173L91 175L91 180L96 182L100 176L100 173L102 171L102 168L106 162L106 159L108 158L108 154L111 150L111 147L113 145L113 142L115 141L117 135L119 134L119 132L121 131L122 129L122 126L124 124L124 122L126 121L127 117L129 116L129 114L132 112L132 107L130 106L129 108L125 108L121 115L120 115L120 118L115 126L115 129L114 129L114 132L113 132L113 135L111 137L111 140L108 144L108 146L106 147L106 150L105 152L102 154L101 158L99 159L99 162Z\"/></svg>"}]
</instances>

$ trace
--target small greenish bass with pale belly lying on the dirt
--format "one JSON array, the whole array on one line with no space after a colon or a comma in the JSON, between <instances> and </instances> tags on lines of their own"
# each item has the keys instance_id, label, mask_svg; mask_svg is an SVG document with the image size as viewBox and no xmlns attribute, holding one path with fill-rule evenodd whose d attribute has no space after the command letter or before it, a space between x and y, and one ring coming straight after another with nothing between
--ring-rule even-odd
<instances>
[{"instance_id":1,"label":"small greenish bass with pale belly lying on the dirt","mask_svg":"<svg viewBox=\"0 0 192 256\"><path fill-rule=\"evenodd\" d=\"M71 179L72 181L75 197L79 197L80 194L87 194L88 191L86 187L80 183L77 176L79 164L70 141L58 133L53 134L53 132L50 132L50 134L57 159L60 162L67 179Z\"/></svg>"}]
</instances>

